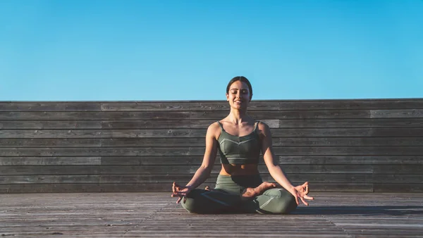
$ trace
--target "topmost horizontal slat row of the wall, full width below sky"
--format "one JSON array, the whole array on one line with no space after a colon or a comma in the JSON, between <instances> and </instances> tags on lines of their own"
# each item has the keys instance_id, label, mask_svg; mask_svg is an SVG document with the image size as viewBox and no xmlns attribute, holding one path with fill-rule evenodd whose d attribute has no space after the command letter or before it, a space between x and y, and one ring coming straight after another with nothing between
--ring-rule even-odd
<instances>
[{"instance_id":1,"label":"topmost horizontal slat row of the wall, full width below sky","mask_svg":"<svg viewBox=\"0 0 423 238\"><path fill-rule=\"evenodd\" d=\"M250 111L423 109L423 99L253 100ZM0 111L228 111L219 101L0 101Z\"/></svg>"}]
</instances>

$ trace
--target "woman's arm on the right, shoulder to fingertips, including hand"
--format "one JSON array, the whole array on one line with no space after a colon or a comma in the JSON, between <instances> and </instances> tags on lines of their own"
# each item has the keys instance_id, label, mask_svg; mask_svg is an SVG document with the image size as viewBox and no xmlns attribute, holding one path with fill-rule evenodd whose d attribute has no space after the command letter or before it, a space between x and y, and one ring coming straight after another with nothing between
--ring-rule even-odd
<instances>
[{"instance_id":1,"label":"woman's arm on the right, shoulder to fingertips, including hand","mask_svg":"<svg viewBox=\"0 0 423 238\"><path fill-rule=\"evenodd\" d=\"M261 131L260 140L262 141L264 163L266 163L266 167L269 170L271 177L273 177L274 180L278 182L278 184L281 184L284 189L290 192L290 194L293 194L297 204L300 204L299 200L301 199L302 203L308 206L308 203L305 201L305 199L313 199L311 196L307 196L309 192L308 182L305 182L304 184L297 187L294 187L293 184L291 184L285 173L283 173L281 166L279 166L278 161L274 158L269 126L265 123L260 123L259 130Z\"/></svg>"}]
</instances>

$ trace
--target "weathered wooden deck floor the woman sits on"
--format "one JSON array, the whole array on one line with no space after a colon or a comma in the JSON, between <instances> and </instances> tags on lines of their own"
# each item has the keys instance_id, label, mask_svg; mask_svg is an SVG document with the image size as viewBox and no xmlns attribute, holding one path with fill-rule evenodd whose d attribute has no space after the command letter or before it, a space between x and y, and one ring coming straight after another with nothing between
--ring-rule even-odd
<instances>
[{"instance_id":1,"label":"weathered wooden deck floor the woman sits on","mask_svg":"<svg viewBox=\"0 0 423 238\"><path fill-rule=\"evenodd\" d=\"M423 193L311 193L291 215L188 213L168 193L0 194L0 235L423 237Z\"/></svg>"}]
</instances>

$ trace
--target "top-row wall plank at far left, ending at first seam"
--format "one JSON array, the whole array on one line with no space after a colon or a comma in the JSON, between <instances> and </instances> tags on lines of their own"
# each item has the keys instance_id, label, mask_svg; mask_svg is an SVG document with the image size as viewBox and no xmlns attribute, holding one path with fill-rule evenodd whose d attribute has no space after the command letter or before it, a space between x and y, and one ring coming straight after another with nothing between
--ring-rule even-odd
<instances>
[{"instance_id":1,"label":"top-row wall plank at far left, ending at first seam","mask_svg":"<svg viewBox=\"0 0 423 238\"><path fill-rule=\"evenodd\" d=\"M101 111L101 104L92 101L0 101L0 111Z\"/></svg>"}]
</instances>

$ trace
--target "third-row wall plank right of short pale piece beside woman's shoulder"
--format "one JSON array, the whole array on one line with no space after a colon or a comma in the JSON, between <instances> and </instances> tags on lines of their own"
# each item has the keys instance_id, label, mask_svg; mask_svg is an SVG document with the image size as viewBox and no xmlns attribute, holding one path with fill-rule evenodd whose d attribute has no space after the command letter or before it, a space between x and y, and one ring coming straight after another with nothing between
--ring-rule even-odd
<instances>
[{"instance_id":1,"label":"third-row wall plank right of short pale piece beside woman's shoulder","mask_svg":"<svg viewBox=\"0 0 423 238\"><path fill-rule=\"evenodd\" d=\"M281 128L423 127L423 118L284 119Z\"/></svg>"}]
</instances>

